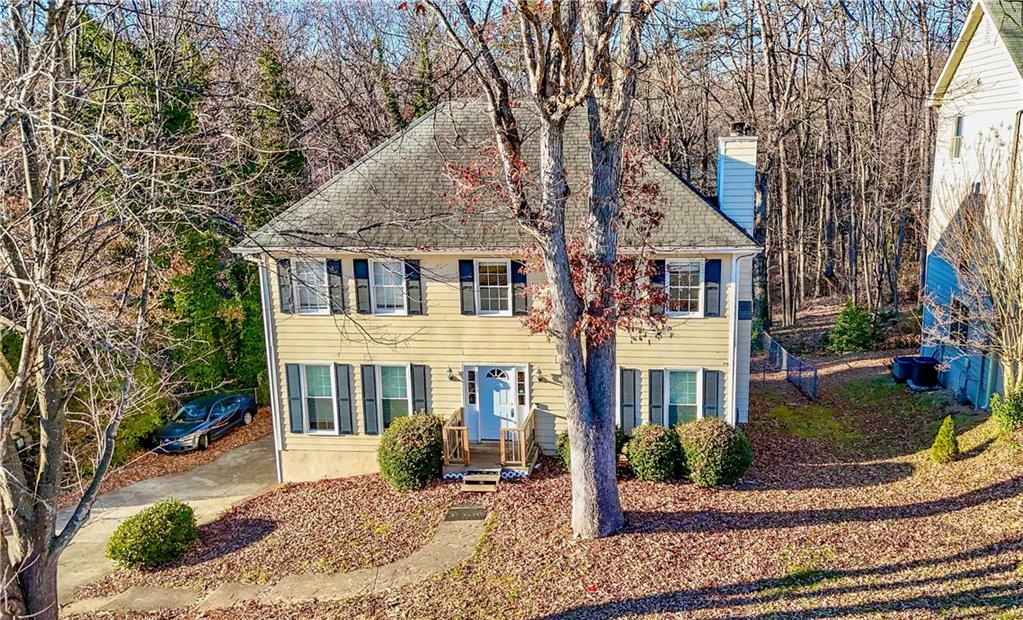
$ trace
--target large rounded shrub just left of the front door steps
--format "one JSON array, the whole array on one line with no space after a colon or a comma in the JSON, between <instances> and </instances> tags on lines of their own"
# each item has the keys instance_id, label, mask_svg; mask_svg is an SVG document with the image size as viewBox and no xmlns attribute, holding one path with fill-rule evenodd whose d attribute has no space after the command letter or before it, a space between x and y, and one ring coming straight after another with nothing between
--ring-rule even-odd
<instances>
[{"instance_id":1,"label":"large rounded shrub just left of the front door steps","mask_svg":"<svg viewBox=\"0 0 1023 620\"><path fill-rule=\"evenodd\" d=\"M443 429L444 422L426 411L403 415L391 423L376 448L376 462L391 488L421 489L441 477Z\"/></svg>"}]
</instances>

